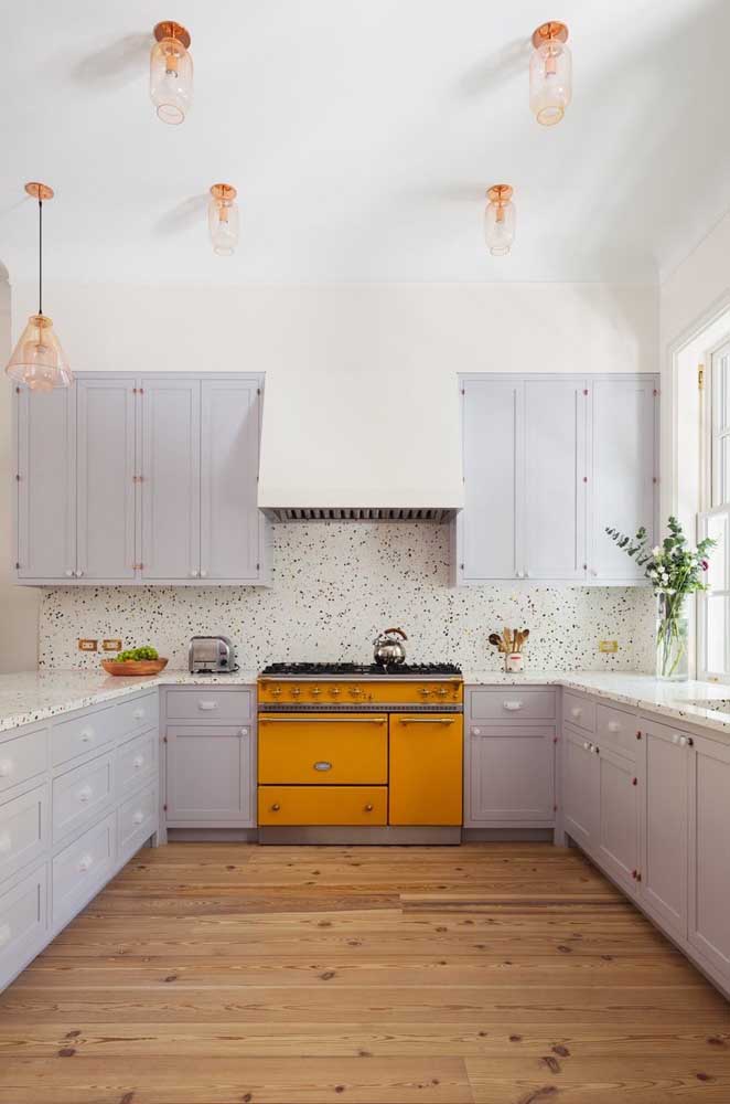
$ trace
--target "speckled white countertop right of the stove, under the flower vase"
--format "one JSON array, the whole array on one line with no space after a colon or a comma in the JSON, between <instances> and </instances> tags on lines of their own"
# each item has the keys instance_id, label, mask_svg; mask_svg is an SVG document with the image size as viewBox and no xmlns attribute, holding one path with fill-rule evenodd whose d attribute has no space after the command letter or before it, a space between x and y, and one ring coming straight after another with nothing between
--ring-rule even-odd
<instances>
[{"instance_id":1,"label":"speckled white countertop right of the stove, under the flower vase","mask_svg":"<svg viewBox=\"0 0 730 1104\"><path fill-rule=\"evenodd\" d=\"M718 682L664 682L653 675L633 671L525 671L523 675L465 671L464 682L466 686L561 686L730 733L730 712L693 704L696 699L706 699L726 702L730 709L730 687Z\"/></svg>"}]
</instances>

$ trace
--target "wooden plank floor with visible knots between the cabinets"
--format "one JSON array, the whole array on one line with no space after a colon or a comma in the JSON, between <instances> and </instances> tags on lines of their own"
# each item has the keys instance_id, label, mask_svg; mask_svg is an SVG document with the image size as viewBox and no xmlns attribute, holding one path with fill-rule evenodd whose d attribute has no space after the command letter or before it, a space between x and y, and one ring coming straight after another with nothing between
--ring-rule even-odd
<instances>
[{"instance_id":1,"label":"wooden plank floor with visible knots between the cabinets","mask_svg":"<svg viewBox=\"0 0 730 1104\"><path fill-rule=\"evenodd\" d=\"M0 1104L730 1102L730 1005L575 851L146 850L0 996Z\"/></svg>"}]
</instances>

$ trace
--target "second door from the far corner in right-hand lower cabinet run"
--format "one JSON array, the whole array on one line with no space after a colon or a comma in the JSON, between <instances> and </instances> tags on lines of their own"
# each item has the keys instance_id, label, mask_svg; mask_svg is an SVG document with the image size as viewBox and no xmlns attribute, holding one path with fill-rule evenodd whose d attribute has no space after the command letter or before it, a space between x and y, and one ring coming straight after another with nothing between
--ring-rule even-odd
<instances>
[{"instance_id":1,"label":"second door from the far corner in right-hand lower cabinet run","mask_svg":"<svg viewBox=\"0 0 730 1104\"><path fill-rule=\"evenodd\" d=\"M598 758L599 835L597 861L624 889L638 888L640 786L635 766L615 752L601 747Z\"/></svg>"}]
</instances>

